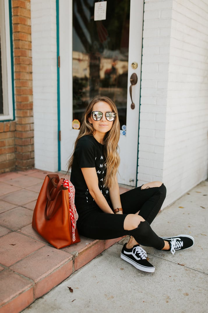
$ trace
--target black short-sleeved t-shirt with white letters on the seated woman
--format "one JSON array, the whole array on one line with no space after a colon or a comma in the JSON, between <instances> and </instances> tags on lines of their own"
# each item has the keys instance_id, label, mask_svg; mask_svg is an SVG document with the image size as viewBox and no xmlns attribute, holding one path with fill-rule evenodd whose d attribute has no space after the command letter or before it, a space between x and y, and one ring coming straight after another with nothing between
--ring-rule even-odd
<instances>
[{"instance_id":1,"label":"black short-sleeved t-shirt with white letters on the seated woman","mask_svg":"<svg viewBox=\"0 0 208 313\"><path fill-rule=\"evenodd\" d=\"M103 148L104 146L91 135L81 137L76 145L70 181L75 186L75 205L79 208L94 203L82 174L82 167L95 167L99 189L109 201L109 190L104 185L106 158Z\"/></svg>"}]
</instances>

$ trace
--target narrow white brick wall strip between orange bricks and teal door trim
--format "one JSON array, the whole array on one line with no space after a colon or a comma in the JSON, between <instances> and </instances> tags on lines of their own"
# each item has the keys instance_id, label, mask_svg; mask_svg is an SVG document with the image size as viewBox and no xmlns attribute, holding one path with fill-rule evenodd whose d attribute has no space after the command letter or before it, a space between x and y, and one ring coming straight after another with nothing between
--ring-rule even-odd
<instances>
[{"instance_id":1,"label":"narrow white brick wall strip between orange bricks and teal door trim","mask_svg":"<svg viewBox=\"0 0 208 313\"><path fill-rule=\"evenodd\" d=\"M58 169L56 1L31 0L35 167Z\"/></svg>"}]
</instances>

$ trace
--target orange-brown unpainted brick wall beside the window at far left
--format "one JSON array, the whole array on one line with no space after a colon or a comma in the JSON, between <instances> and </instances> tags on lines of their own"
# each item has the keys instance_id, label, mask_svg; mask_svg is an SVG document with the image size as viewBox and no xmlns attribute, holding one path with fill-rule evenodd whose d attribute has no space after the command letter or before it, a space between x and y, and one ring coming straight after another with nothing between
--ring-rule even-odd
<instances>
[{"instance_id":1,"label":"orange-brown unpainted brick wall beside the window at far left","mask_svg":"<svg viewBox=\"0 0 208 313\"><path fill-rule=\"evenodd\" d=\"M15 122L0 123L0 172L34 167L30 0L12 0Z\"/></svg>"}]
</instances>

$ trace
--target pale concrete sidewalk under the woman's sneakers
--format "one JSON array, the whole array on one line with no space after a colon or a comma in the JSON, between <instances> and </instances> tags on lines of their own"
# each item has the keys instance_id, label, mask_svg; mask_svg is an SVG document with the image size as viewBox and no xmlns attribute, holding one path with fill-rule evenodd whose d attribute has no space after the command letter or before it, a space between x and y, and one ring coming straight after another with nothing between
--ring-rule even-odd
<instances>
[{"instance_id":1,"label":"pale concrete sidewalk under the woman's sneakers","mask_svg":"<svg viewBox=\"0 0 208 313\"><path fill-rule=\"evenodd\" d=\"M158 214L152 223L158 235L190 234L195 245L175 255L144 248L154 273L139 271L120 258L124 238L23 312L207 312L207 209L204 181Z\"/></svg>"}]
</instances>

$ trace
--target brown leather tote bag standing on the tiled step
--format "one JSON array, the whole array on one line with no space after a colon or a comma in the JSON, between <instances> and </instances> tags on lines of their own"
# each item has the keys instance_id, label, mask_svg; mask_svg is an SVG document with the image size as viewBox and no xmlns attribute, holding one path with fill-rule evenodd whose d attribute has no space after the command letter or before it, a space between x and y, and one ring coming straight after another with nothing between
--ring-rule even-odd
<instances>
[{"instance_id":1,"label":"brown leather tote bag standing on the tiled step","mask_svg":"<svg viewBox=\"0 0 208 313\"><path fill-rule=\"evenodd\" d=\"M32 217L32 227L57 249L80 242L77 228L72 239L69 190L63 181L57 174L46 175Z\"/></svg>"}]
</instances>

